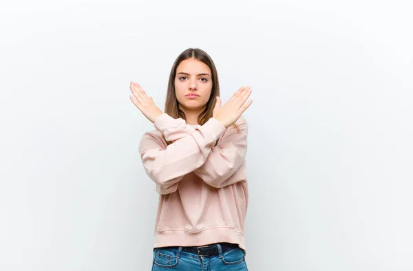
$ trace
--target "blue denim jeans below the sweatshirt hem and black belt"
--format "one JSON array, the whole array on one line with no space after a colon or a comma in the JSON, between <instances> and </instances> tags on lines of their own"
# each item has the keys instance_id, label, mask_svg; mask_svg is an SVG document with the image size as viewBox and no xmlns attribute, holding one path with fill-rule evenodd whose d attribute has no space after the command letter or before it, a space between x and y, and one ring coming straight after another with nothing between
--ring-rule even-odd
<instances>
[{"instance_id":1,"label":"blue denim jeans below the sweatshirt hem and black belt","mask_svg":"<svg viewBox=\"0 0 413 271\"><path fill-rule=\"evenodd\" d=\"M233 248L222 252L220 244L218 254L198 256L178 248L154 248L152 271L183 270L183 271L248 271L245 262L245 252L241 248Z\"/></svg>"}]
</instances>

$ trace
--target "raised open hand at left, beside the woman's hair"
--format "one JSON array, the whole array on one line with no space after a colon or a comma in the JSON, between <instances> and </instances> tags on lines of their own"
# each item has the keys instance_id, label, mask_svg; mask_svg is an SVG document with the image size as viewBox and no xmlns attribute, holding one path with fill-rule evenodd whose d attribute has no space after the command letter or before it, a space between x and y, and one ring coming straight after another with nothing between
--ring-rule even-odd
<instances>
[{"instance_id":1,"label":"raised open hand at left, beside the woman's hair","mask_svg":"<svg viewBox=\"0 0 413 271\"><path fill-rule=\"evenodd\" d=\"M152 123L155 123L155 120L162 115L162 111L155 105L155 103L151 98L148 98L145 91L140 87L138 83L131 81L129 88L134 94L134 97L129 96L131 101L138 107L140 111L142 111L143 115L147 117Z\"/></svg>"}]
</instances>

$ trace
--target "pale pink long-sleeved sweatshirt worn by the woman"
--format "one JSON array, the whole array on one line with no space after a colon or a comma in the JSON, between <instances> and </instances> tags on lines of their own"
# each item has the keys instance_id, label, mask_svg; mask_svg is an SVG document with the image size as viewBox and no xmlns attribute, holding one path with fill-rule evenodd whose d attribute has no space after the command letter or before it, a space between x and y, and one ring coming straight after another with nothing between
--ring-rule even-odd
<instances>
[{"instance_id":1,"label":"pale pink long-sleeved sweatshirt worn by the woman","mask_svg":"<svg viewBox=\"0 0 413 271\"><path fill-rule=\"evenodd\" d=\"M142 164L160 194L153 248L229 242L246 251L247 124L235 123L240 132L215 118L191 125L162 113L142 136Z\"/></svg>"}]
</instances>

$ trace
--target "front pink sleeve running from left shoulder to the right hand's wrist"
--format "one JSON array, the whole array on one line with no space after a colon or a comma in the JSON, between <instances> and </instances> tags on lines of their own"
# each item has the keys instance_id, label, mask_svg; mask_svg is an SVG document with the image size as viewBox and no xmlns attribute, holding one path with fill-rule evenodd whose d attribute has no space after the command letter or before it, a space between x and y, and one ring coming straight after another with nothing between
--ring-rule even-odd
<instances>
[{"instance_id":1,"label":"front pink sleeve running from left shoulder to the right hand's wrist","mask_svg":"<svg viewBox=\"0 0 413 271\"><path fill-rule=\"evenodd\" d=\"M167 134L178 135L179 133L170 132L177 131L173 129L167 131ZM184 175L204 164L211 153L211 146L225 131L219 120L210 118L204 125L195 127L194 131L167 147L160 135L144 133L139 153L145 172L156 183L156 191L161 195L175 192Z\"/></svg>"}]
</instances>

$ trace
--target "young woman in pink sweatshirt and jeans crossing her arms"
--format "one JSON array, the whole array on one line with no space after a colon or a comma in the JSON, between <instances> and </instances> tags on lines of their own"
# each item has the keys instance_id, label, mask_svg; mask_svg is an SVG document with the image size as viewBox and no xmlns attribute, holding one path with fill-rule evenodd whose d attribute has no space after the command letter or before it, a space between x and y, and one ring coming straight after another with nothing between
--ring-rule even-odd
<instances>
[{"instance_id":1,"label":"young woman in pink sweatshirt and jeans crossing her arms","mask_svg":"<svg viewBox=\"0 0 413 271\"><path fill-rule=\"evenodd\" d=\"M138 83L131 101L156 130L139 151L160 194L152 270L247 270L244 219L251 87L221 106L218 74L200 49L182 52L171 69L163 113Z\"/></svg>"}]
</instances>

